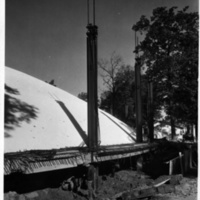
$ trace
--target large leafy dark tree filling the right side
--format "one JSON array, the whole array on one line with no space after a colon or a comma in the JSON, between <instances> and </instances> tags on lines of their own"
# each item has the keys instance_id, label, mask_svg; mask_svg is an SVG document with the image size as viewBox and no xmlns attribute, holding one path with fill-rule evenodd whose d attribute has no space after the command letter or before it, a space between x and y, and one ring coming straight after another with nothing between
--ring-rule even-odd
<instances>
[{"instance_id":1,"label":"large leafy dark tree filling the right side","mask_svg":"<svg viewBox=\"0 0 200 200\"><path fill-rule=\"evenodd\" d=\"M169 116L172 138L175 123L197 124L198 13L187 10L159 7L150 20L142 16L133 26L145 34L136 53L140 53L148 79L156 86L154 99Z\"/></svg>"}]
</instances>

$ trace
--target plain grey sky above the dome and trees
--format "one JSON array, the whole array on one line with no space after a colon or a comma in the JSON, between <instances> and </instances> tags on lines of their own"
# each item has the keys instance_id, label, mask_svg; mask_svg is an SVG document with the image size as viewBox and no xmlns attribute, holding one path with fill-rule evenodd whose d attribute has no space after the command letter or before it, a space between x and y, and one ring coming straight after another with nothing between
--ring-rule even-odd
<instances>
[{"instance_id":1,"label":"plain grey sky above the dome and trees","mask_svg":"<svg viewBox=\"0 0 200 200\"><path fill-rule=\"evenodd\" d=\"M188 5L198 11L198 0L96 0L98 58L109 59L115 51L134 66L132 26L141 15ZM87 0L6 0L5 6L5 65L54 79L75 96L86 92Z\"/></svg>"}]
</instances>

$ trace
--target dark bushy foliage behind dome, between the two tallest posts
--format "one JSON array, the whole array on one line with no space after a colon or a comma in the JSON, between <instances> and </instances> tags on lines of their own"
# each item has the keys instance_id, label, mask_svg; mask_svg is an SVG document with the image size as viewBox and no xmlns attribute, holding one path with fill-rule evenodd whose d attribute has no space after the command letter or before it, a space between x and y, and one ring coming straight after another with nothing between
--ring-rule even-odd
<instances>
[{"instance_id":1,"label":"dark bushy foliage behind dome, between the two tallest posts","mask_svg":"<svg viewBox=\"0 0 200 200\"><path fill-rule=\"evenodd\" d=\"M115 74L114 82L115 116L127 124L134 126L134 70L131 66L121 66ZM106 90L101 94L100 108L110 111L112 92Z\"/></svg>"}]
</instances>

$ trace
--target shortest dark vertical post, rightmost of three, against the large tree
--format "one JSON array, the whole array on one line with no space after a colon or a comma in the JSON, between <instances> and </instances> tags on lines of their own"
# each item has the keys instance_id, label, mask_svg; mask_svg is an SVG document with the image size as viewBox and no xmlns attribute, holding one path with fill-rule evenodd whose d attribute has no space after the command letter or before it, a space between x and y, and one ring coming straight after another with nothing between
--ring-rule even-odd
<instances>
[{"instance_id":1,"label":"shortest dark vertical post, rightmost of three, against the large tree","mask_svg":"<svg viewBox=\"0 0 200 200\"><path fill-rule=\"evenodd\" d=\"M154 139L154 114L153 114L153 83L148 83L148 129L149 129L149 141Z\"/></svg>"}]
</instances>

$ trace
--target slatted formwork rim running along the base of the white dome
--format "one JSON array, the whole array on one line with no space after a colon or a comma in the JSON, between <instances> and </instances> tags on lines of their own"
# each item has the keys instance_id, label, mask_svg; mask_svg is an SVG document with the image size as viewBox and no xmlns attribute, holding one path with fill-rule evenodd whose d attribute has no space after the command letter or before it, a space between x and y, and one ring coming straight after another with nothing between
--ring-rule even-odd
<instances>
[{"instance_id":1,"label":"slatted formwork rim running along the base of the white dome","mask_svg":"<svg viewBox=\"0 0 200 200\"><path fill-rule=\"evenodd\" d=\"M6 153L4 155L4 174L9 175L14 172L32 174L73 168L84 162L98 163L141 155L156 147L156 143L141 143L100 146L97 152L92 153L86 147Z\"/></svg>"}]
</instances>

